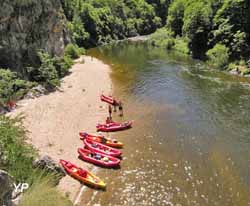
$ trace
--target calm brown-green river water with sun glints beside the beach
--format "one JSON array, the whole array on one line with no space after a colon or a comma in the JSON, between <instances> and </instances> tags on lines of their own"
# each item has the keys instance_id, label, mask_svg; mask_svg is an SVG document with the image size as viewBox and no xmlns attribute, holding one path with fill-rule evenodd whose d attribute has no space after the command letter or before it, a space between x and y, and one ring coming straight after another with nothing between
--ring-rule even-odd
<instances>
[{"instance_id":1,"label":"calm brown-green river water with sun glints beside the beach","mask_svg":"<svg viewBox=\"0 0 250 206\"><path fill-rule=\"evenodd\" d=\"M142 43L89 54L112 66L134 128L121 169L99 169L107 191L82 205L250 205L250 81Z\"/></svg>"}]
</instances>

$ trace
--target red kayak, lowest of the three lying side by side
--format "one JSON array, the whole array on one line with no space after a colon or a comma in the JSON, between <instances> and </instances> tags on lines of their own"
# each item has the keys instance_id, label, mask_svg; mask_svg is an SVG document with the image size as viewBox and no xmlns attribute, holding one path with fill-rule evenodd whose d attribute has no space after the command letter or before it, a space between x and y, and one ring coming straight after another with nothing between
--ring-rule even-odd
<instances>
[{"instance_id":1,"label":"red kayak, lowest of the three lying side by side","mask_svg":"<svg viewBox=\"0 0 250 206\"><path fill-rule=\"evenodd\" d=\"M116 157L109 155L92 152L88 149L79 148L78 150L79 157L87 162L91 162L96 165L101 165L104 167L117 167L120 164L120 160Z\"/></svg>"}]
</instances>

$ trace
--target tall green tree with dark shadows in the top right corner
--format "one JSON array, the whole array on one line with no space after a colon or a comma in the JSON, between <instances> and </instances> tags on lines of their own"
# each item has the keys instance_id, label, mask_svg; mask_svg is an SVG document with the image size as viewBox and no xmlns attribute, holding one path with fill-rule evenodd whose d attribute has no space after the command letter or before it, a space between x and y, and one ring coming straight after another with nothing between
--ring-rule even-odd
<instances>
[{"instance_id":1,"label":"tall green tree with dark shadows in the top right corner","mask_svg":"<svg viewBox=\"0 0 250 206\"><path fill-rule=\"evenodd\" d=\"M249 56L249 4L244 0L224 0L213 18L211 41L225 44L233 59Z\"/></svg>"}]
</instances>

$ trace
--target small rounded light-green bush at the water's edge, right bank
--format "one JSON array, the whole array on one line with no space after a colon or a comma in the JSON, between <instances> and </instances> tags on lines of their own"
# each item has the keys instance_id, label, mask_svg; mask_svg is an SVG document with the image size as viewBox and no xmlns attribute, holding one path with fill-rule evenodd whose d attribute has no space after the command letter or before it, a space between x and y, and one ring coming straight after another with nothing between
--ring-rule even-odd
<instances>
[{"instance_id":1,"label":"small rounded light-green bush at the water's edge, right bank","mask_svg":"<svg viewBox=\"0 0 250 206\"><path fill-rule=\"evenodd\" d=\"M206 53L209 63L221 70L225 69L229 61L229 49L223 44L216 44Z\"/></svg>"}]
</instances>

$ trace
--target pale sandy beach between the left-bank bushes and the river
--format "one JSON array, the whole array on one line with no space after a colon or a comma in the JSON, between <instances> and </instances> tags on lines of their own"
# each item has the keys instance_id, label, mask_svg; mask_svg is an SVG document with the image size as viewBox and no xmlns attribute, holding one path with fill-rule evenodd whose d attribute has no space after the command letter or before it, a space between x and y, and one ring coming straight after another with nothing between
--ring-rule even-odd
<instances>
[{"instance_id":1,"label":"pale sandy beach between the left-bank bushes and the river","mask_svg":"<svg viewBox=\"0 0 250 206\"><path fill-rule=\"evenodd\" d=\"M63 79L60 90L36 99L23 100L14 115L24 113L24 125L31 143L41 155L48 154L56 161L70 160L85 168L91 165L77 158L77 148L82 145L79 131L95 131L97 122L107 115L106 105L99 100L102 91L111 91L110 69L103 62L83 57L85 63L76 63L71 74ZM69 176L62 179L59 188L72 201L80 184Z\"/></svg>"}]
</instances>

